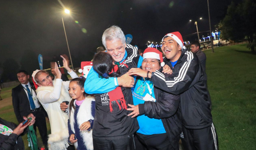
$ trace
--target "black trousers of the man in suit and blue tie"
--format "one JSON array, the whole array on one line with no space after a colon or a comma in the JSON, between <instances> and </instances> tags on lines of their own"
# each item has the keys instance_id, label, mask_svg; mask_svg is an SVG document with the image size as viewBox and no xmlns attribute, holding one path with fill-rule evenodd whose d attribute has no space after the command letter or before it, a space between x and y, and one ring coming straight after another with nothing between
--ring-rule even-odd
<instances>
[{"instance_id":1,"label":"black trousers of the man in suit and blue tie","mask_svg":"<svg viewBox=\"0 0 256 150\"><path fill-rule=\"evenodd\" d=\"M34 130L36 132L36 127L38 128L38 131L41 135L42 141L44 146L47 146L47 127L46 127L46 120L44 116L43 108L37 109L37 111L32 112L33 115L36 117L36 122L34 124Z\"/></svg>"}]
</instances>

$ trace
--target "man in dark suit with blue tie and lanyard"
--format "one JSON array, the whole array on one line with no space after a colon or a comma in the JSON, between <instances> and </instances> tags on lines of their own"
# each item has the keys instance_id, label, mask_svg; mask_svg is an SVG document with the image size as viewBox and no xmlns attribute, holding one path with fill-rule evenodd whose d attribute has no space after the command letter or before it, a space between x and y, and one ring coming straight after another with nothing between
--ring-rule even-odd
<instances>
[{"instance_id":1,"label":"man in dark suit with blue tie and lanyard","mask_svg":"<svg viewBox=\"0 0 256 150\"><path fill-rule=\"evenodd\" d=\"M17 73L20 85L12 89L12 105L14 113L19 123L23 122L23 116L28 116L32 113L36 117L34 129L36 126L42 137L43 144L47 148L47 127L44 115L44 108L40 105L35 92L33 83L29 83L29 75L25 70L20 70Z\"/></svg>"}]
</instances>

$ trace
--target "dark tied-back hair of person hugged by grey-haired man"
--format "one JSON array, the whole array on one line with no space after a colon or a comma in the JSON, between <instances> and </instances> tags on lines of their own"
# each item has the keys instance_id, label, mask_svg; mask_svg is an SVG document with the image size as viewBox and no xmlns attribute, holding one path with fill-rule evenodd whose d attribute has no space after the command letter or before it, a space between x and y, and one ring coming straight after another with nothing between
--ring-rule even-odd
<instances>
[{"instance_id":1,"label":"dark tied-back hair of person hugged by grey-haired man","mask_svg":"<svg viewBox=\"0 0 256 150\"><path fill-rule=\"evenodd\" d=\"M112 58L110 54L107 52L101 51L93 57L93 69L103 78L109 78L109 77L119 77L120 76L120 70L116 72L112 72L112 69L114 68L115 64L113 64L115 60ZM109 74L110 73L110 74Z\"/></svg>"}]
</instances>

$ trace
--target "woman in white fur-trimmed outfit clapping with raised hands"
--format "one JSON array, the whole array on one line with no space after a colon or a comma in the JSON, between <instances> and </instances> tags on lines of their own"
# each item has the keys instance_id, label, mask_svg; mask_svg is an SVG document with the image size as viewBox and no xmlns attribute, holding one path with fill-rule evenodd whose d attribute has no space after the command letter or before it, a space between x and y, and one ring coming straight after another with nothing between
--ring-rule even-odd
<instances>
[{"instance_id":1,"label":"woman in white fur-trimmed outfit clapping with raised hands","mask_svg":"<svg viewBox=\"0 0 256 150\"><path fill-rule=\"evenodd\" d=\"M62 57L62 56L61 56ZM63 66L74 79L78 76L68 67L67 60L63 58ZM48 135L49 150L71 150L74 146L68 144L68 114L60 109L63 101L70 101L68 86L70 81L62 81L61 72L55 63L56 79L52 81L48 72L36 70L33 72L33 82L36 86L37 98L47 112L51 134ZM38 86L38 87L37 87Z\"/></svg>"}]
</instances>

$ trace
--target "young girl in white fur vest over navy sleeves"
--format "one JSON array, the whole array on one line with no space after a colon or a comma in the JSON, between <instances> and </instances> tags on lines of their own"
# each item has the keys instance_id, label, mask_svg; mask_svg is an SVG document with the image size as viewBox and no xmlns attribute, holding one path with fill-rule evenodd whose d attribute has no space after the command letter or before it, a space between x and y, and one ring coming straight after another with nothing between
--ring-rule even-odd
<instances>
[{"instance_id":1,"label":"young girl in white fur vest over navy sleeves","mask_svg":"<svg viewBox=\"0 0 256 150\"><path fill-rule=\"evenodd\" d=\"M69 103L68 132L69 142L77 150L93 150L92 126L95 114L95 98L84 92L85 78L70 81L68 91L72 100Z\"/></svg>"}]
</instances>

